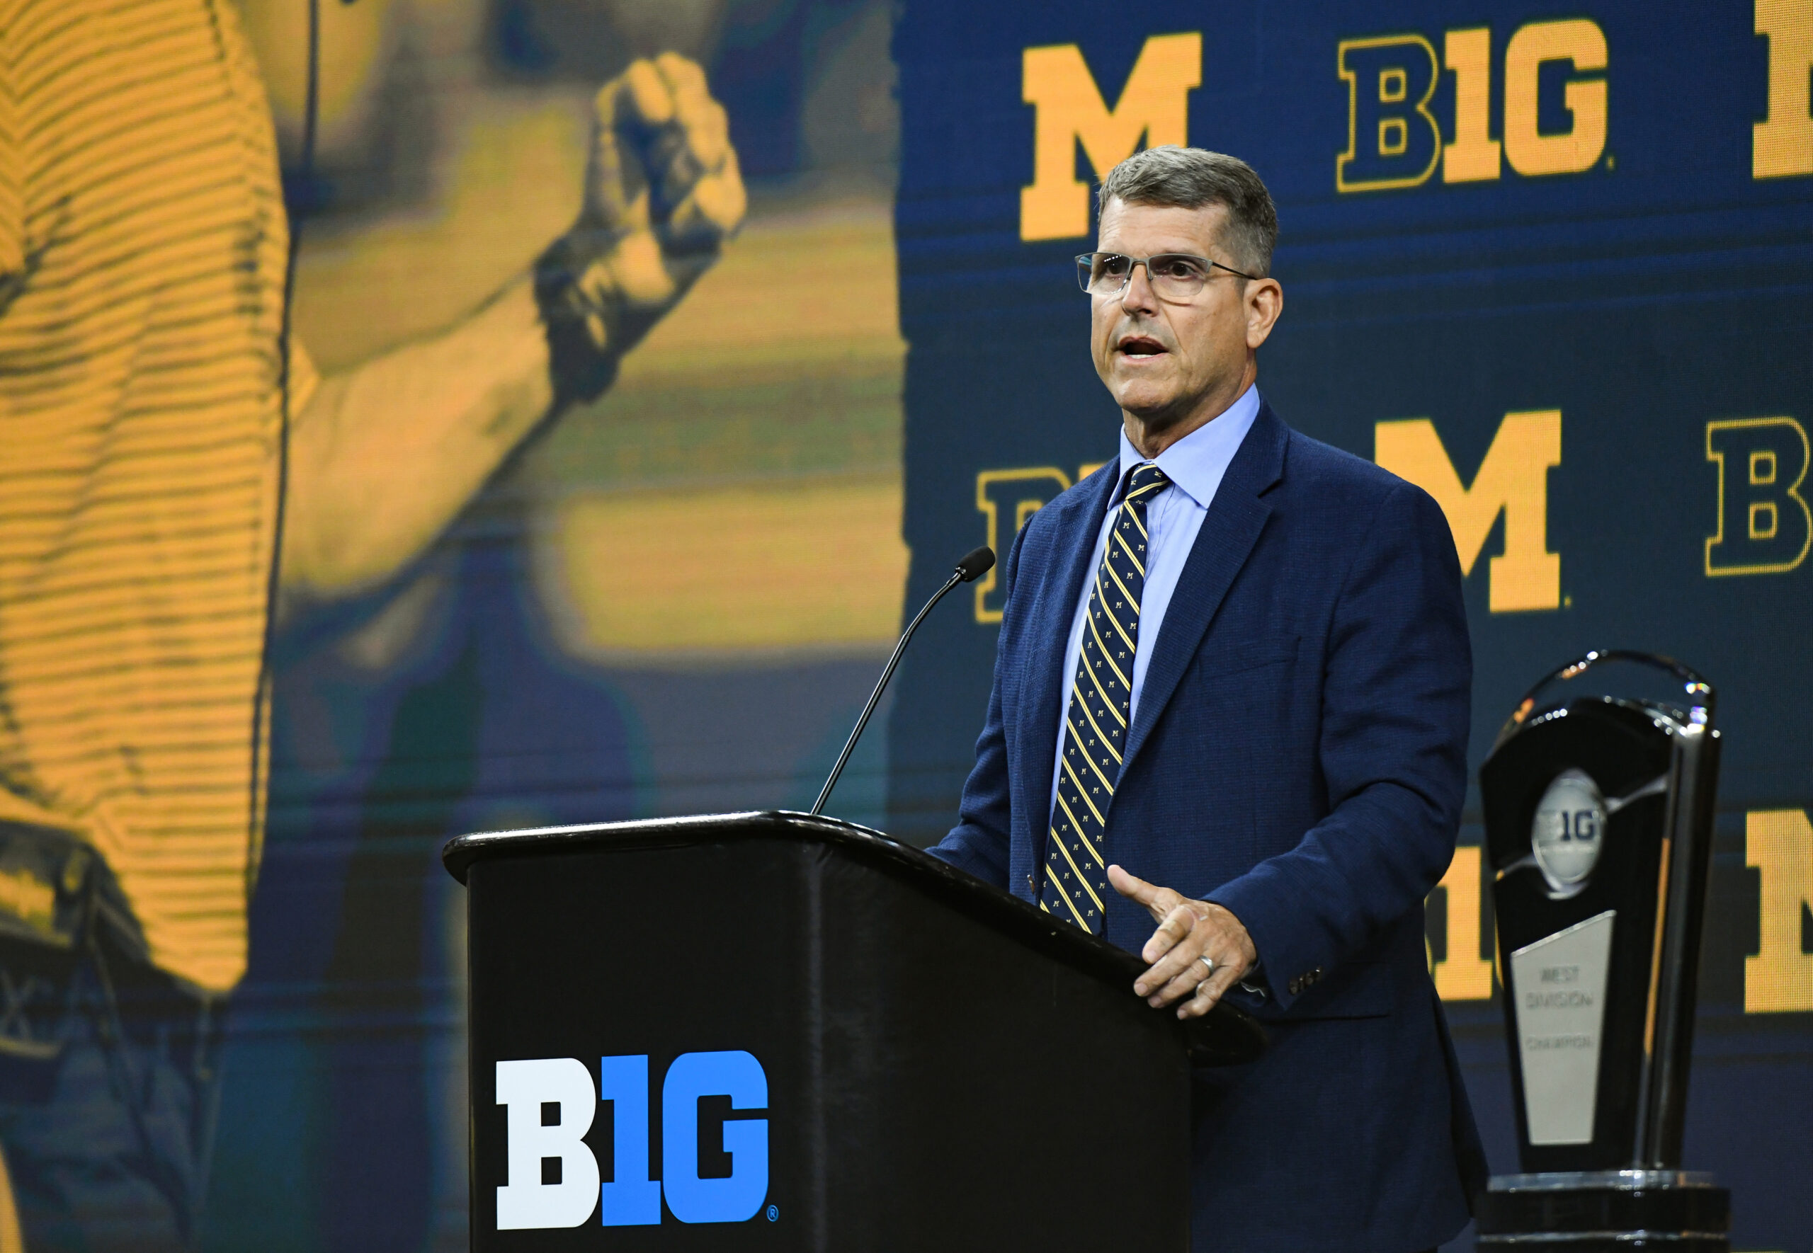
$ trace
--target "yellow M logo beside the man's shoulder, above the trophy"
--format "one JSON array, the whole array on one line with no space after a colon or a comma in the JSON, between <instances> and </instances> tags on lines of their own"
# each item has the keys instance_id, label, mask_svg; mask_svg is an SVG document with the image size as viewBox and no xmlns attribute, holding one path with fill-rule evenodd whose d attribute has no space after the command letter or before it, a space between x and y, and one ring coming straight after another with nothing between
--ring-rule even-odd
<instances>
[{"instance_id":1,"label":"yellow M logo beside the man's shoulder, above the trophy","mask_svg":"<svg viewBox=\"0 0 1813 1253\"><path fill-rule=\"evenodd\" d=\"M1505 555L1492 559L1492 613L1561 606L1561 555L1548 551L1548 468L1561 464L1561 410L1507 413L1470 488L1427 417L1378 423L1372 450L1380 466L1441 506L1463 575L1505 513Z\"/></svg>"}]
</instances>

